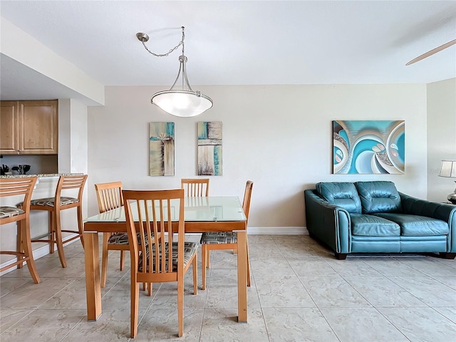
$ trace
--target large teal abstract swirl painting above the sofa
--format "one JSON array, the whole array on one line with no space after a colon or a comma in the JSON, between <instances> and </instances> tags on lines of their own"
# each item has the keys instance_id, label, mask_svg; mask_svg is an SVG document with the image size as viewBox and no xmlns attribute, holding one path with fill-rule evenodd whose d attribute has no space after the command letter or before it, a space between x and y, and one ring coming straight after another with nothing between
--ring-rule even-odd
<instances>
[{"instance_id":1,"label":"large teal abstract swirl painting above the sofa","mask_svg":"<svg viewBox=\"0 0 456 342\"><path fill-rule=\"evenodd\" d=\"M405 173L403 120L333 121L333 174Z\"/></svg>"}]
</instances>

